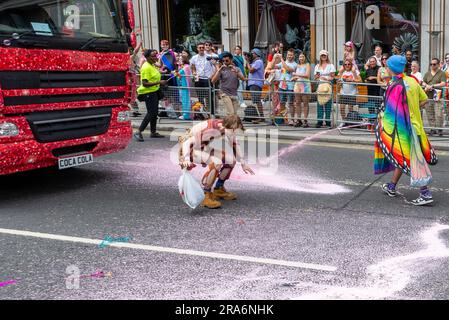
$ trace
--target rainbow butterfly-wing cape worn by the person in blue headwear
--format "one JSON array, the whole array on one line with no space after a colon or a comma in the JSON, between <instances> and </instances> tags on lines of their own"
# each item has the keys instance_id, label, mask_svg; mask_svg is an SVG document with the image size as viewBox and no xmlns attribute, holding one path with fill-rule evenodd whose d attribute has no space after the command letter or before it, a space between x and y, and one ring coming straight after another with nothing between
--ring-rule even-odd
<instances>
[{"instance_id":1,"label":"rainbow butterfly-wing cape worn by the person in blue headwear","mask_svg":"<svg viewBox=\"0 0 449 320\"><path fill-rule=\"evenodd\" d=\"M407 89L401 77L392 82L385 93L375 132L375 174L399 168L411 177L413 187L424 187L432 182L428 164L435 165L438 159L427 136L418 136L413 128Z\"/></svg>"}]
</instances>

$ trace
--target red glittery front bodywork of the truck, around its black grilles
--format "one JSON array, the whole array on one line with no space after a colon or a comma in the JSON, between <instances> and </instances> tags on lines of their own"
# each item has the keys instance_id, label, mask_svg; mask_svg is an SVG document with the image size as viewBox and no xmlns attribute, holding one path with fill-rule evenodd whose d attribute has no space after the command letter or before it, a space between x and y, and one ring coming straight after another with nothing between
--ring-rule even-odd
<instances>
[{"instance_id":1,"label":"red glittery front bodywork of the truck, around its black grilles","mask_svg":"<svg viewBox=\"0 0 449 320\"><path fill-rule=\"evenodd\" d=\"M132 79L130 57L127 53L94 53L69 50L0 48L1 71L117 71L126 72L126 86L90 88L52 88L2 90L0 88L0 123L15 124L20 134L15 137L0 137L0 174L11 174L57 165L54 149L96 143L88 153L98 157L125 149L132 136L130 122L117 121L118 112L129 111ZM4 106L4 98L23 96L63 96L76 94L98 94L124 92L123 98L75 101L63 103L27 104ZM52 111L73 108L93 108L113 106L109 129L98 136L39 143L23 113L33 111Z\"/></svg>"}]
</instances>

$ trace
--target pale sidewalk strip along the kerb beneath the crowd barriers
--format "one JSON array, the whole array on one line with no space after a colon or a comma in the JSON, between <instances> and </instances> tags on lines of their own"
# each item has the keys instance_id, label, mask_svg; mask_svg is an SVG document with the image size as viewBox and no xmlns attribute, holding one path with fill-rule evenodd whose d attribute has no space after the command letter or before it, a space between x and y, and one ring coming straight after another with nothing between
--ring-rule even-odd
<instances>
[{"instance_id":1,"label":"pale sidewalk strip along the kerb beneath the crowd barriers","mask_svg":"<svg viewBox=\"0 0 449 320\"><path fill-rule=\"evenodd\" d=\"M137 129L142 122L141 117L132 118L132 125L134 129ZM168 134L174 130L186 130L191 128L194 122L192 121L181 121L172 119L160 119L158 122L158 131ZM282 126L272 126L270 124L252 124L244 123L246 129L253 130L267 130L267 135L269 135L270 130L278 129L280 140L291 140L300 141L309 137L312 137L311 141L314 142L328 142L328 143L342 143L342 144L361 144L361 145L374 145L375 137L373 133L362 129L333 129L325 130L315 129L315 128L292 128L285 125ZM449 135L446 133L444 137L429 137L432 146L436 150L449 151Z\"/></svg>"}]
</instances>

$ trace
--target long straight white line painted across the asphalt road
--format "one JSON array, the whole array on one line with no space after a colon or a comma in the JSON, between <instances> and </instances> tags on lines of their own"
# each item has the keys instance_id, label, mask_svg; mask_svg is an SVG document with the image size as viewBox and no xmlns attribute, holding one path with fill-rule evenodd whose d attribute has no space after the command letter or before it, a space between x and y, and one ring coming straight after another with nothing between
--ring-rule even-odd
<instances>
[{"instance_id":1,"label":"long straight white line painted across the asphalt road","mask_svg":"<svg viewBox=\"0 0 449 320\"><path fill-rule=\"evenodd\" d=\"M103 240L96 240L96 239L89 239L89 238L71 237L71 236L63 236L63 235L56 235L56 234L49 234L49 233L2 229L2 228L0 228L0 233L16 235L16 236L41 238L41 239L93 244L93 245L100 245L103 242ZM311 269L311 270L317 270L317 271L327 271L327 272L337 271L336 267L320 265L320 264L313 264L313 263L302 263L302 262L296 262L296 261L238 256L238 255L216 253L216 252L204 252L204 251L196 251L196 250L165 248L165 247L157 247L157 246L150 246L150 245L144 245L144 244L112 243L108 246L115 247L115 248L128 248L128 249L136 249L136 250L173 253L173 254L197 256L197 257L205 257L205 258L213 258L213 259L252 262L252 263L277 265L277 266L283 266L283 267L293 267L293 268L300 268L300 269Z\"/></svg>"}]
</instances>

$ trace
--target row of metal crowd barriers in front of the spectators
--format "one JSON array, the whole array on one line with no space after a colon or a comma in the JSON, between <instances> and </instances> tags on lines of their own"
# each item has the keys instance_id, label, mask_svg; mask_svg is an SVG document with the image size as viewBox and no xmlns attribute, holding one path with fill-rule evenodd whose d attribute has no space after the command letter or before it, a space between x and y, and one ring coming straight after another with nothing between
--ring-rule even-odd
<instances>
[{"instance_id":1,"label":"row of metal crowd barriers in front of the spectators","mask_svg":"<svg viewBox=\"0 0 449 320\"><path fill-rule=\"evenodd\" d=\"M261 80L262 81L262 80ZM329 83L331 91L317 93L320 81L295 82L294 90L283 90L279 81L268 84L265 79L261 91L238 90L229 97L215 86L164 87L165 99L160 101L160 118L178 121L202 121L236 113L246 123L296 128L354 127L372 132L379 108L383 103L383 90L378 84ZM193 81L191 82L193 83ZM344 86L347 86L344 89ZM355 86L355 94L347 94ZM291 86L290 86L291 88ZM347 91L346 91L347 90ZM351 92L350 92L351 93ZM321 103L320 103L321 102ZM141 104L140 111L146 112ZM449 135L449 88L441 88L435 99L429 99L422 109L426 131L432 135ZM367 125L370 124L370 125Z\"/></svg>"}]
</instances>

